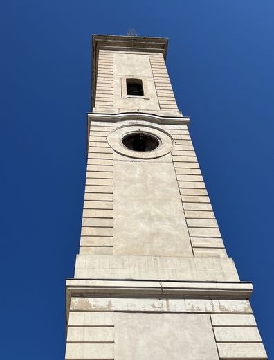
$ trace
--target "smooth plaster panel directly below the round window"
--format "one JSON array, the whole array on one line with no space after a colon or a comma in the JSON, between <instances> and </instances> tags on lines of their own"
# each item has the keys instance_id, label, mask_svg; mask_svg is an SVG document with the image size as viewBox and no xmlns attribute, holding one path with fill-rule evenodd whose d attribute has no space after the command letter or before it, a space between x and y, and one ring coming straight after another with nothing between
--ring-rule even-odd
<instances>
[{"instance_id":1,"label":"smooth plaster panel directly below the round window","mask_svg":"<svg viewBox=\"0 0 274 360\"><path fill-rule=\"evenodd\" d=\"M114 254L192 255L172 163L115 161L114 183Z\"/></svg>"}]
</instances>

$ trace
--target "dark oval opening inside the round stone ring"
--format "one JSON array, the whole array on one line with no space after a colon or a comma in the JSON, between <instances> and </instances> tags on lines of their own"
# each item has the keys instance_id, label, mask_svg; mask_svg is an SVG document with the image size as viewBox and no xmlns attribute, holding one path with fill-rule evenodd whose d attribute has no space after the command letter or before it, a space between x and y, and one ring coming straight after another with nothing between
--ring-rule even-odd
<instances>
[{"instance_id":1,"label":"dark oval opening inside the round stone ring","mask_svg":"<svg viewBox=\"0 0 274 360\"><path fill-rule=\"evenodd\" d=\"M142 152L155 150L160 145L156 138L142 132L125 136L122 143L130 150Z\"/></svg>"}]
</instances>

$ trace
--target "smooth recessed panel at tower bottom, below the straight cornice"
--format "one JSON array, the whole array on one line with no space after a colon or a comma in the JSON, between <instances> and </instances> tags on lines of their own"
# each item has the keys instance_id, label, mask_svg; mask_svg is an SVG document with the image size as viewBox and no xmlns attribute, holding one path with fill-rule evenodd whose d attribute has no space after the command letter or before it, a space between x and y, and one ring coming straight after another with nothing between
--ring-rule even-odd
<instances>
[{"instance_id":1,"label":"smooth recessed panel at tower bottom, below the straight cornice","mask_svg":"<svg viewBox=\"0 0 274 360\"><path fill-rule=\"evenodd\" d=\"M115 331L116 360L219 360L208 315L119 313Z\"/></svg>"}]
</instances>

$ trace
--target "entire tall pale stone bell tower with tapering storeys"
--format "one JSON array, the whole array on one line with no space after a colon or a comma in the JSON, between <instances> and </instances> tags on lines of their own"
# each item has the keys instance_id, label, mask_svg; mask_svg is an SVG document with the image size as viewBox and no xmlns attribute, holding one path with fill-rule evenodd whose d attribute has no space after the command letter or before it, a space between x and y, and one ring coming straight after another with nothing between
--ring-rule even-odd
<instances>
[{"instance_id":1,"label":"entire tall pale stone bell tower with tapering storeys","mask_svg":"<svg viewBox=\"0 0 274 360\"><path fill-rule=\"evenodd\" d=\"M167 39L93 36L66 359L267 359L165 66Z\"/></svg>"}]
</instances>

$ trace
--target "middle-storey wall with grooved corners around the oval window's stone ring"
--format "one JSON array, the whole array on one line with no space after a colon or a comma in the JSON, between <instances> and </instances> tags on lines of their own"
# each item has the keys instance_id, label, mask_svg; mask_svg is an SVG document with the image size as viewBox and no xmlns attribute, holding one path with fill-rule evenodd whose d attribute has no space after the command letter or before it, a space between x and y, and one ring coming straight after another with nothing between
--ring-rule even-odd
<instances>
[{"instance_id":1,"label":"middle-storey wall with grooved corners around the oval window's stone ring","mask_svg":"<svg viewBox=\"0 0 274 360\"><path fill-rule=\"evenodd\" d=\"M125 242L127 242L129 251L125 251L124 254L129 252L134 254L134 247L138 246L140 250L136 255L149 255L149 249L142 245L140 237L150 233L151 236L155 234L158 239L155 238L155 242L158 241L158 246L155 244L158 250L151 255L172 255L170 251L173 251L173 255L176 253L176 255L226 257L226 250L188 127L152 124L169 133L174 139L171 156L132 161L127 156L114 153L113 159L113 149L107 142L107 136L113 129L129 124L129 122L91 123L80 253L111 255L113 244L116 243L117 248L114 249L114 253L121 254L122 250L119 251L118 248L122 246L125 250ZM116 172L113 172L114 169ZM139 185L138 181L140 181ZM142 181L143 186L141 186ZM113 209L115 194L116 208ZM182 204L181 208L178 201ZM127 216L127 222L124 221L124 216ZM176 219L178 220L175 226ZM159 220L158 224L157 220ZM114 224L117 233L115 242L113 242ZM147 228L144 228L145 224ZM143 227L143 231L138 233L140 226ZM165 226L169 227L168 231ZM179 233L176 233L176 230ZM134 231L135 240L130 241ZM162 236L169 237L169 240L165 238L165 246L161 245ZM125 238L124 244L121 244L122 238ZM174 242L180 241L181 246L180 244L175 246L175 243L171 242L172 238ZM191 253L188 251L188 241L192 248ZM149 239L145 242L147 244ZM185 242L185 252L182 252L183 242Z\"/></svg>"}]
</instances>

